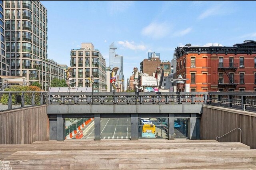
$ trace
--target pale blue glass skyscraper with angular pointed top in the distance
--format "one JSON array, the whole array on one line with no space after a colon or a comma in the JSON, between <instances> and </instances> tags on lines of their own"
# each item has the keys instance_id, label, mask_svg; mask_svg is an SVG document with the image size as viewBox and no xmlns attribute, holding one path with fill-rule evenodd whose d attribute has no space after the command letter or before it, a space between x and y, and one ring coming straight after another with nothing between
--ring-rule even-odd
<instances>
[{"instance_id":1,"label":"pale blue glass skyscraper with angular pointed top in the distance","mask_svg":"<svg viewBox=\"0 0 256 170\"><path fill-rule=\"evenodd\" d=\"M118 67L117 77L116 80L124 80L124 73L123 73L123 56L118 55L115 52L117 49L114 46L114 42L109 45L109 67L113 69L114 67ZM121 88L121 91L124 91L124 81L119 81L118 85Z\"/></svg>"}]
</instances>

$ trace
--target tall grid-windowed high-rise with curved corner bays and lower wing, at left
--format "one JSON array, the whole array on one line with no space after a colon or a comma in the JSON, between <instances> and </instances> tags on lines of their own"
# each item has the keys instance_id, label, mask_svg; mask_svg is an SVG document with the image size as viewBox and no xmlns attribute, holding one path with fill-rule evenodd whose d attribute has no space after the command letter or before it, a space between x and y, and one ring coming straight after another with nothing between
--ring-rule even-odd
<instances>
[{"instance_id":1,"label":"tall grid-windowed high-rise with curved corner bays and lower wing, at left","mask_svg":"<svg viewBox=\"0 0 256 170\"><path fill-rule=\"evenodd\" d=\"M54 78L64 79L64 69L47 58L47 9L42 3L5 0L4 11L9 75L26 77L30 85L38 81L44 90Z\"/></svg>"}]
</instances>

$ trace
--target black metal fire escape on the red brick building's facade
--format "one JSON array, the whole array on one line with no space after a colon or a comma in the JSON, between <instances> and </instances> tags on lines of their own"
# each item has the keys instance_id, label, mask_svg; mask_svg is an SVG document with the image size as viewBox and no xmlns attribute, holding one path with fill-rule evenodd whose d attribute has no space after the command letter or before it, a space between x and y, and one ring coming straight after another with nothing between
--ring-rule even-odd
<instances>
[{"instance_id":1,"label":"black metal fire escape on the red brick building's facade","mask_svg":"<svg viewBox=\"0 0 256 170\"><path fill-rule=\"evenodd\" d=\"M230 62L228 64L224 63L219 63L218 64L218 73L224 71L228 77L228 80L224 80L223 77L219 77L218 81L218 88L225 88L226 91L228 90L228 87L233 87L234 89L238 85L238 80L234 80L234 74L233 73L228 73L228 72L234 72L238 69L238 64Z\"/></svg>"}]
</instances>

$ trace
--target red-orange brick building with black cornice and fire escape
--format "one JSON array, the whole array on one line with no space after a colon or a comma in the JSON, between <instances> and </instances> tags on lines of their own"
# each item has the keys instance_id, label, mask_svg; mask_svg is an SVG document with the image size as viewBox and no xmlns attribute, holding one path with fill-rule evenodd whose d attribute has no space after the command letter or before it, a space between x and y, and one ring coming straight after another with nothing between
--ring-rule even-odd
<instances>
[{"instance_id":1,"label":"red-orange brick building with black cornice and fire escape","mask_svg":"<svg viewBox=\"0 0 256 170\"><path fill-rule=\"evenodd\" d=\"M176 74L188 78L190 91L256 91L256 42L244 41L233 47L175 49Z\"/></svg>"}]
</instances>

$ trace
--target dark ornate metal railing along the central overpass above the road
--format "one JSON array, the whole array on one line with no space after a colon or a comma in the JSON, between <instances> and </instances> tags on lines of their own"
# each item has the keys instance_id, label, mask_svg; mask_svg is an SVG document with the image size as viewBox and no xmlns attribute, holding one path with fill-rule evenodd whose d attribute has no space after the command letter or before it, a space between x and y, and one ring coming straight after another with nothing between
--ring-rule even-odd
<instances>
[{"instance_id":1,"label":"dark ornate metal railing along the central overpass above the road","mask_svg":"<svg viewBox=\"0 0 256 170\"><path fill-rule=\"evenodd\" d=\"M151 92L151 93L48 93L49 105L147 105L147 104L204 104L207 93Z\"/></svg>"}]
</instances>

